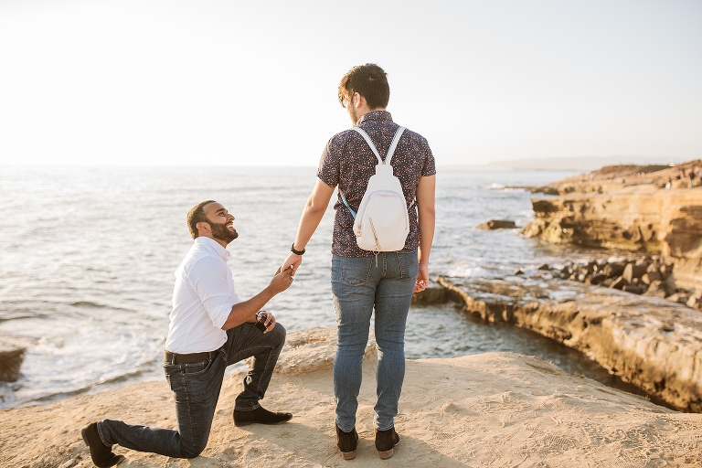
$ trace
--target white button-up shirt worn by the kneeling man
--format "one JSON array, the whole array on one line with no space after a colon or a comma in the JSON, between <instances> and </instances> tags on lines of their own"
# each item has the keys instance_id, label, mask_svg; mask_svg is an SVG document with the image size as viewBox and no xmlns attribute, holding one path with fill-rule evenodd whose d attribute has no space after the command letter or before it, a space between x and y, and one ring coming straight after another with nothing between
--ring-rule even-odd
<instances>
[{"instance_id":1,"label":"white button-up shirt worn by the kneeling man","mask_svg":"<svg viewBox=\"0 0 702 468\"><path fill-rule=\"evenodd\" d=\"M240 303L227 266L229 250L198 237L176 270L165 349L176 354L214 351L227 342L222 325Z\"/></svg>"}]
</instances>

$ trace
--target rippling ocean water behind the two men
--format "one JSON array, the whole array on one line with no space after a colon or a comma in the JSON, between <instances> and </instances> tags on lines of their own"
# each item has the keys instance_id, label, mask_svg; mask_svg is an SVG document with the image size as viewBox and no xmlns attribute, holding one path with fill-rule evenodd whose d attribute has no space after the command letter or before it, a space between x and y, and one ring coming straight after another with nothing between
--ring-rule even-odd
<instances>
[{"instance_id":1,"label":"rippling ocean water behind the two men","mask_svg":"<svg viewBox=\"0 0 702 468\"><path fill-rule=\"evenodd\" d=\"M474 229L493 218L524 225L530 199L544 197L505 186L572 175L440 167L431 276L495 277L587 258L591 252L516 230ZM174 271L192 243L189 208L216 199L236 217L229 267L246 299L285 258L314 182L314 167L0 166L0 335L32 344L22 378L0 385L0 408L163 378ZM333 217L332 203L293 286L266 307L289 331L335 325ZM607 379L601 367L536 334L481 324L452 304L412 307L408 357L491 350L536 354Z\"/></svg>"}]
</instances>

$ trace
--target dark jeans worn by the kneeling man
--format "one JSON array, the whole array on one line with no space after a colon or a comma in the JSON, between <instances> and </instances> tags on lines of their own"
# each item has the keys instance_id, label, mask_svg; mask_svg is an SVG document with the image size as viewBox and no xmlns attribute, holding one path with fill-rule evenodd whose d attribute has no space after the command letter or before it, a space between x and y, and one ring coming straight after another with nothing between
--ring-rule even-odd
<instances>
[{"instance_id":1,"label":"dark jeans worn by the kneeling man","mask_svg":"<svg viewBox=\"0 0 702 468\"><path fill-rule=\"evenodd\" d=\"M120 444L139 452L173 458L195 458L207 446L224 371L229 364L253 356L253 366L244 378L234 409L259 408L278 356L285 343L285 328L275 324L267 334L254 324L240 324L227 331L227 343L210 353L210 358L189 364L164 362L165 378L176 400L178 430L131 426L121 420L101 420L98 432L107 445Z\"/></svg>"}]
</instances>

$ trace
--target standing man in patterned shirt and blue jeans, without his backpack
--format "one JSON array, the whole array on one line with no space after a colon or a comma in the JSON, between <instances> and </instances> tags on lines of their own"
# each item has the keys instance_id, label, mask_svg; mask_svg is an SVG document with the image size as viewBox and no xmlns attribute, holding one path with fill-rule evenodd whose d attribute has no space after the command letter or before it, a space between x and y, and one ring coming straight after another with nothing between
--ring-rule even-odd
<instances>
[{"instance_id":1,"label":"standing man in patterned shirt and blue jeans, without his backpack","mask_svg":"<svg viewBox=\"0 0 702 468\"><path fill-rule=\"evenodd\" d=\"M339 102L351 122L369 135L383 161L392 156L391 165L402 186L410 217L410 234L404 248L374 252L356 244L355 213L368 179L376 172L378 159L361 134L346 130L336 133L324 148L317 182L303 209L292 253L282 264L283 270L292 265L296 271L300 266L304 248L338 186L332 241L332 293L338 324L334 392L336 445L346 460L356 456L357 397L374 310L378 404L373 424L380 458L392 456L393 447L399 443L395 416L405 376L405 324L412 293L423 291L429 282L429 253L434 236L434 157L427 140L409 130L402 133L394 154L388 154L399 129L385 110L389 97L387 74L375 64L350 69L339 84ZM341 196L346 197L348 206Z\"/></svg>"}]
</instances>

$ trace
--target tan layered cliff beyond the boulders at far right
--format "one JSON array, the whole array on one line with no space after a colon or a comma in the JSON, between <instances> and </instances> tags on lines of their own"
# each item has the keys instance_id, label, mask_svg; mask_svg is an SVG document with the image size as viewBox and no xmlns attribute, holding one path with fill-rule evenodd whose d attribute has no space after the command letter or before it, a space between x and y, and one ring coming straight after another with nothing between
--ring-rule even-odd
<instances>
[{"instance_id":1,"label":"tan layered cliff beyond the boulders at far right","mask_svg":"<svg viewBox=\"0 0 702 468\"><path fill-rule=\"evenodd\" d=\"M699 160L608 166L537 187L534 192L558 197L532 200L536 218L522 233L554 243L660 252L675 264L675 286L702 291L702 186L697 178L691 187L688 178L700 166Z\"/></svg>"}]
</instances>

